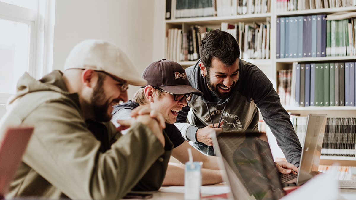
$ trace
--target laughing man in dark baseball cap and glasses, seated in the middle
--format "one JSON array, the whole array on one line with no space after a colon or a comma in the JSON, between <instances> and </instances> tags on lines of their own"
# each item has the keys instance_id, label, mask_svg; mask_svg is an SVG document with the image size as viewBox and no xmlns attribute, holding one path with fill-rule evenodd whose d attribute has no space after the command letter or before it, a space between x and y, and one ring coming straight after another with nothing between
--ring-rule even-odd
<instances>
[{"instance_id":1,"label":"laughing man in dark baseball cap and glasses, seated in the middle","mask_svg":"<svg viewBox=\"0 0 356 200\"><path fill-rule=\"evenodd\" d=\"M193 153L193 160L203 162L202 183L221 183L222 178L217 158L206 156L189 145L173 124L176 122L179 111L184 106L187 106L187 101L189 101L192 94L201 96L203 93L189 85L187 74L183 67L171 60L163 59L151 63L146 67L142 77L147 80L147 85L142 86L135 93L134 101L114 106L111 121L116 126L121 124L119 129L124 129L125 126L122 127L124 123L121 120L130 119L132 116L132 114L130 116L130 113L133 109L143 105L150 106L150 108L161 113L166 121L164 131L174 145L172 156L185 163L189 160L187 149L190 148ZM163 185L184 185L184 165L170 163Z\"/></svg>"}]
</instances>

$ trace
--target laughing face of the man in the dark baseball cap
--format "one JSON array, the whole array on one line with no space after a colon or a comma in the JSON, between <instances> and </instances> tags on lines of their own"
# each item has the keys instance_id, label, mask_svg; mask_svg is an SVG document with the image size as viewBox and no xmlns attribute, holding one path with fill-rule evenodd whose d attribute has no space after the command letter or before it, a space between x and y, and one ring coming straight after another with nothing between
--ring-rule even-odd
<instances>
[{"instance_id":1,"label":"laughing face of the man in the dark baseball cap","mask_svg":"<svg viewBox=\"0 0 356 200\"><path fill-rule=\"evenodd\" d=\"M178 112L184 106L187 106L187 100L183 98L182 101L174 101L174 96L166 92L162 92L161 96L158 96L157 91L156 94L151 103L151 108L161 113L166 123L173 124L176 122Z\"/></svg>"}]
</instances>

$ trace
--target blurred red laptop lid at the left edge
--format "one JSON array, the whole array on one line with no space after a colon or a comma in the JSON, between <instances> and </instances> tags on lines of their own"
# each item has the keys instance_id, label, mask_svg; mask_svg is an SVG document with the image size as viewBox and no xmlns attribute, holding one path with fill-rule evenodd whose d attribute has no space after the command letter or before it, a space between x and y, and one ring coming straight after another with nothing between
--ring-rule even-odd
<instances>
[{"instance_id":1,"label":"blurred red laptop lid at the left edge","mask_svg":"<svg viewBox=\"0 0 356 200\"><path fill-rule=\"evenodd\" d=\"M33 127L16 127L0 135L0 199L9 189L32 132Z\"/></svg>"}]
</instances>

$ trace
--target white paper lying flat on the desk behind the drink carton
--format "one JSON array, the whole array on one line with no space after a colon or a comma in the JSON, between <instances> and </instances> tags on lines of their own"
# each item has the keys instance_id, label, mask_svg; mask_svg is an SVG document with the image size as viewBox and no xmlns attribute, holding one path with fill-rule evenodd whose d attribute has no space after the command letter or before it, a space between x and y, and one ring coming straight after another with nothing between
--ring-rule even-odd
<instances>
[{"instance_id":1,"label":"white paper lying flat on the desk behind the drink carton","mask_svg":"<svg viewBox=\"0 0 356 200\"><path fill-rule=\"evenodd\" d=\"M171 192L171 193L184 193L184 186L171 186L167 188L161 188L160 192ZM201 194L225 194L230 192L230 187L228 186L201 186Z\"/></svg>"}]
</instances>

